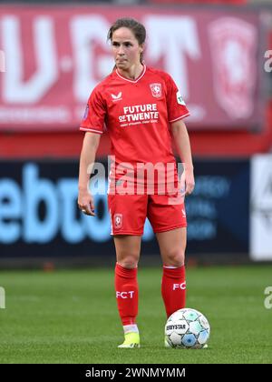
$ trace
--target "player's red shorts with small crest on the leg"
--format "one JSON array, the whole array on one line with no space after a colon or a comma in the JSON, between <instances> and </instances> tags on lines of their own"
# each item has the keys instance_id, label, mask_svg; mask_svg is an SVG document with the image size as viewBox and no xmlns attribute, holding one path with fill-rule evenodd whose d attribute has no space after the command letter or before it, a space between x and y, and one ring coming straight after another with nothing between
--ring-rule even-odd
<instances>
[{"instance_id":1,"label":"player's red shorts with small crest on the leg","mask_svg":"<svg viewBox=\"0 0 272 382\"><path fill-rule=\"evenodd\" d=\"M111 235L143 234L146 217L154 233L187 226L184 203L167 195L108 195Z\"/></svg>"}]
</instances>

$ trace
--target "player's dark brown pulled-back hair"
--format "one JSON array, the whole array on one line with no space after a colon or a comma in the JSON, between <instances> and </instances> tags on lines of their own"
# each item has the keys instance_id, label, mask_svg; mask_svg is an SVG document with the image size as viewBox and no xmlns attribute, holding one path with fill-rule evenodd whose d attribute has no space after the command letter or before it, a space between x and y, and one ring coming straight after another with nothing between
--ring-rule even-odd
<instances>
[{"instance_id":1,"label":"player's dark brown pulled-back hair","mask_svg":"<svg viewBox=\"0 0 272 382\"><path fill-rule=\"evenodd\" d=\"M134 18L131 18L131 17L122 17L122 18L119 18L118 20L116 20L115 23L112 24L111 28L109 29L107 40L112 41L113 32L115 32L117 29L122 28L122 27L131 29L131 32L133 33L133 35L137 39L139 45L141 45L145 42L145 37L146 37L145 27L141 23L139 23L137 20L135 20ZM140 55L141 63L142 63L142 58L143 58L142 56L143 55L141 53L141 55Z\"/></svg>"}]
</instances>

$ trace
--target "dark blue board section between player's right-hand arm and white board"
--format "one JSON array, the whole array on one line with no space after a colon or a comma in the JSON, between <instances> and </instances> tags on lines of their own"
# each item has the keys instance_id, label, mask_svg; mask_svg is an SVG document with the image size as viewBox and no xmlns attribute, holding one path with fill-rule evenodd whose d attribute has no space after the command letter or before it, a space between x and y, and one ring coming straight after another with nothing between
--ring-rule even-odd
<instances>
[{"instance_id":1,"label":"dark blue board section between player's right-hand arm and white board","mask_svg":"<svg viewBox=\"0 0 272 382\"><path fill-rule=\"evenodd\" d=\"M248 160L197 161L195 174L186 201L189 252L248 253Z\"/></svg>"}]
</instances>

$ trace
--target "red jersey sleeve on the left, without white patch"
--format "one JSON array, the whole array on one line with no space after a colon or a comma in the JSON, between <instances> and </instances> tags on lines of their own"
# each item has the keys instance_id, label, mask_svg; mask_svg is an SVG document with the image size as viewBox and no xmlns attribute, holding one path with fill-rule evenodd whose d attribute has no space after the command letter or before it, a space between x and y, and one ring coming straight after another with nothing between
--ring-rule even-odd
<instances>
[{"instance_id":1,"label":"red jersey sleeve on the left, without white patch","mask_svg":"<svg viewBox=\"0 0 272 382\"><path fill-rule=\"evenodd\" d=\"M80 126L80 130L91 131L92 133L102 134L106 107L102 100L100 91L95 88L90 95L88 104Z\"/></svg>"}]
</instances>

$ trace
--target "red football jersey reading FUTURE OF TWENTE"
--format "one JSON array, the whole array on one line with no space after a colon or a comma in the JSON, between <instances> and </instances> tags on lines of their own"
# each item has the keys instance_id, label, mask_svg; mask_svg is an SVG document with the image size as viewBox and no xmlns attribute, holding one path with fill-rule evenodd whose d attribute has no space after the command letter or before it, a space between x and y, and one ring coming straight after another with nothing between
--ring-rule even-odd
<instances>
[{"instance_id":1,"label":"red football jersey reading FUTURE OF TWENTE","mask_svg":"<svg viewBox=\"0 0 272 382\"><path fill-rule=\"evenodd\" d=\"M175 163L171 150L170 123L189 116L179 89L170 75L144 65L141 75L130 80L117 69L90 95L80 129L111 139L115 166ZM121 166L120 166L121 167Z\"/></svg>"}]
</instances>

